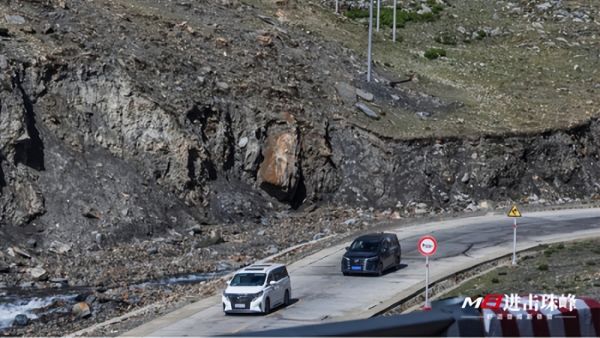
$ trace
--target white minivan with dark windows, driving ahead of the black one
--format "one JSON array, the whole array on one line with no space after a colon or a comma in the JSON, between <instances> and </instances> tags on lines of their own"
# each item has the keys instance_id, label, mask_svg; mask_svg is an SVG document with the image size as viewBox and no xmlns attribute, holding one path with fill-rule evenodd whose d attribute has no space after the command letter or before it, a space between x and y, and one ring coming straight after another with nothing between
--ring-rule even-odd
<instances>
[{"instance_id":1,"label":"white minivan with dark windows, driving ahead of the black one","mask_svg":"<svg viewBox=\"0 0 600 338\"><path fill-rule=\"evenodd\" d=\"M283 264L253 264L235 273L223 291L223 311L228 313L271 312L289 305L290 276Z\"/></svg>"}]
</instances>

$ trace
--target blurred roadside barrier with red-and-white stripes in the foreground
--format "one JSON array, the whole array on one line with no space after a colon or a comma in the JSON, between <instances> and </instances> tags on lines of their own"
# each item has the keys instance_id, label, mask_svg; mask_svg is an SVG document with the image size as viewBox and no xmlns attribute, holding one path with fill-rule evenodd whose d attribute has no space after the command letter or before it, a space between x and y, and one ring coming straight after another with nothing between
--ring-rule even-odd
<instances>
[{"instance_id":1,"label":"blurred roadside barrier with red-and-white stripes in the foreground","mask_svg":"<svg viewBox=\"0 0 600 338\"><path fill-rule=\"evenodd\" d=\"M305 325L258 332L243 337L534 337L600 336L600 302L576 299L576 308L504 310L464 306L465 298L432 303L431 311L344 322ZM514 305L514 304L513 304Z\"/></svg>"}]
</instances>

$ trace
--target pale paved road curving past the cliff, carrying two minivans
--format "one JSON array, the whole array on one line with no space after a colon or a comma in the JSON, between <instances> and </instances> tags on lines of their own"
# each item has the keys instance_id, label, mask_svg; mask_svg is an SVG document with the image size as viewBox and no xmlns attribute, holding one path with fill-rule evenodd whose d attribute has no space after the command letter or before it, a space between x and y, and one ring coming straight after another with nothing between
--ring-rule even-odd
<instances>
[{"instance_id":1,"label":"pale paved road curving past the cliff, carrying two minivans","mask_svg":"<svg viewBox=\"0 0 600 338\"><path fill-rule=\"evenodd\" d=\"M382 277L345 277L340 260L348 243L306 257L288 267L296 302L268 316L225 316L220 296L190 304L126 335L213 336L325 321L366 318L394 299L424 285L424 258L417 239L433 234L439 243L432 278L512 252L512 221L504 215L469 217L391 229L402 245L404 268ZM518 249L540 243L600 236L600 209L529 213L519 219ZM536 290L531 290L535 292Z\"/></svg>"}]
</instances>

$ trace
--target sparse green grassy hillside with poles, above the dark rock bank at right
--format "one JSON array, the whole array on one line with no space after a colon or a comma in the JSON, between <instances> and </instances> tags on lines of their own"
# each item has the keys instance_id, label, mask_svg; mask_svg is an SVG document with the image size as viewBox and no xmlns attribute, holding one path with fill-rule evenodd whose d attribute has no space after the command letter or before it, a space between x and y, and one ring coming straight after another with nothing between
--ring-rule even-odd
<instances>
[{"instance_id":1,"label":"sparse green grassy hillside with poles, above the dark rock bank at right","mask_svg":"<svg viewBox=\"0 0 600 338\"><path fill-rule=\"evenodd\" d=\"M245 1L366 60L368 11L349 8L354 2L342 1L343 14L335 15L330 3ZM600 115L600 22L594 18L600 2L399 1L395 44L390 3L384 1L382 29L374 36L377 74L398 80L414 74L416 81L393 90L448 108L419 112L390 99L376 102L382 119L355 112L356 124L414 138L534 133ZM432 12L417 14L422 4ZM436 51L446 56L431 57Z\"/></svg>"}]
</instances>

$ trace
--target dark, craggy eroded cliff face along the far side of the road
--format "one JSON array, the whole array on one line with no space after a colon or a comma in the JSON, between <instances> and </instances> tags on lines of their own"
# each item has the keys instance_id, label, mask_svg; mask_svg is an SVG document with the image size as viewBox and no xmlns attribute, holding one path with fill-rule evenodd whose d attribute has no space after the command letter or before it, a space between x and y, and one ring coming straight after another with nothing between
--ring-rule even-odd
<instances>
[{"instance_id":1,"label":"dark, craggy eroded cliff face along the far side of the road","mask_svg":"<svg viewBox=\"0 0 600 338\"><path fill-rule=\"evenodd\" d=\"M245 20L264 16L237 2L168 6L181 22L98 6L0 5L53 27L25 42L11 28L3 40L2 244L37 233L42 249L86 236L104 246L307 203L463 210L600 190L597 121L536 136L390 140L349 122L362 114L348 84L360 84L362 64L336 44L268 19L248 30L256 23ZM367 89L361 99L376 104Z\"/></svg>"}]
</instances>

